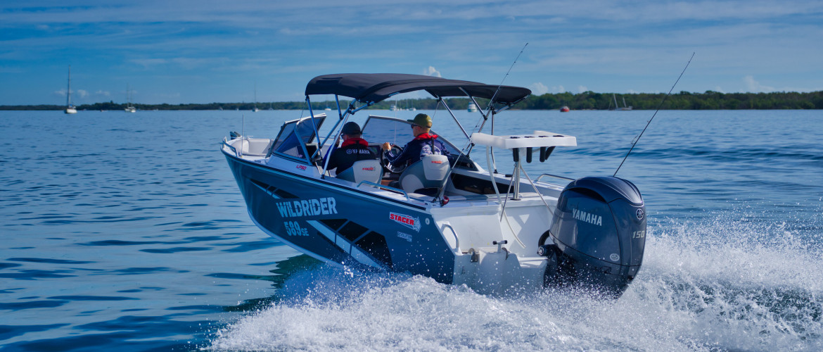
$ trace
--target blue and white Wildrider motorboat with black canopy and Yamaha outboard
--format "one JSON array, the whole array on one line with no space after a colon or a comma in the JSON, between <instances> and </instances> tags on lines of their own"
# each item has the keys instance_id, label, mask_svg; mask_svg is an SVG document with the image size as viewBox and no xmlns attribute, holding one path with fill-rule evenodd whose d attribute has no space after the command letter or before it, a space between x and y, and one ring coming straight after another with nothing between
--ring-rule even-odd
<instances>
[{"instance_id":1,"label":"blue and white Wildrider motorboat with black canopy and Yamaha outboard","mask_svg":"<svg viewBox=\"0 0 823 352\"><path fill-rule=\"evenodd\" d=\"M416 91L446 106L451 119L444 115L435 129L456 124L457 134L438 137L449 156L427 155L407 166L380 154L340 175L327 170L323 157L352 115ZM315 114L310 101L330 94L337 101L332 119ZM486 132L530 94L524 87L412 74L322 75L305 88L308 115L286 121L274 138L232 132L221 153L253 223L329 265L424 275L482 294L558 288L619 298L642 264L644 200L634 184L614 176L528 175L524 163L546 162L557 147L577 145L574 136L544 130ZM339 96L350 98L349 105L340 106ZM446 105L456 96L488 101L476 130L464 129ZM332 127L319 134L324 123ZM401 118L369 115L361 130L375 153L385 141L412 139ZM496 171L509 162L495 166L492 149L506 150L512 170Z\"/></svg>"}]
</instances>

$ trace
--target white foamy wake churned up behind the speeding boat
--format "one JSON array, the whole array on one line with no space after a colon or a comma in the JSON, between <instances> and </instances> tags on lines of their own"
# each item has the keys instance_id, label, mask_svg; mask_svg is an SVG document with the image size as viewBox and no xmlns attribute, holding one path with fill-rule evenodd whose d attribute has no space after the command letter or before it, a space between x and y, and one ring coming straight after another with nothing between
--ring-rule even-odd
<instances>
[{"instance_id":1,"label":"white foamy wake churned up behind the speeding boat","mask_svg":"<svg viewBox=\"0 0 823 352\"><path fill-rule=\"evenodd\" d=\"M616 301L492 297L420 275L304 270L205 349L823 349L819 238L751 219L650 222L643 269ZM817 222L801 228L820 237Z\"/></svg>"}]
</instances>

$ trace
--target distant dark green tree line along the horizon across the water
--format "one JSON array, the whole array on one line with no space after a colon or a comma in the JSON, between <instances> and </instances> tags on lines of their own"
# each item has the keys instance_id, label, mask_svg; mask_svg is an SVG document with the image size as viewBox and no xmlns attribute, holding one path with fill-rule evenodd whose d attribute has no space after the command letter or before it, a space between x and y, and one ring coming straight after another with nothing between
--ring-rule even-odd
<instances>
[{"instance_id":1,"label":"distant dark green tree line along the horizon across the water","mask_svg":"<svg viewBox=\"0 0 823 352\"><path fill-rule=\"evenodd\" d=\"M518 110L556 110L561 106L568 106L571 110L609 110L615 106L631 106L635 110L655 110L658 106L663 110L774 110L774 109L823 109L823 91L820 92L770 92L770 93L722 93L706 91L703 93L679 92L668 96L665 101L664 93L596 93L582 92L573 94L546 93L540 96L529 96L513 109ZM467 98L449 98L445 100L453 110L466 110L469 104ZM340 101L343 109L350 101ZM486 106L488 101L478 99L480 106ZM663 102L663 105L661 105ZM435 110L438 102L434 98L404 99L381 101L368 109L388 110L391 106L408 110ZM258 107L261 110L306 110L305 101L281 101L263 103L207 103L207 104L134 104L138 110L251 110ZM125 104L114 101L77 106L77 110L123 110ZM442 106L440 106L442 107ZM313 101L312 109L337 110L334 101ZM65 106L35 105L35 106L0 106L0 110L63 110Z\"/></svg>"}]
</instances>

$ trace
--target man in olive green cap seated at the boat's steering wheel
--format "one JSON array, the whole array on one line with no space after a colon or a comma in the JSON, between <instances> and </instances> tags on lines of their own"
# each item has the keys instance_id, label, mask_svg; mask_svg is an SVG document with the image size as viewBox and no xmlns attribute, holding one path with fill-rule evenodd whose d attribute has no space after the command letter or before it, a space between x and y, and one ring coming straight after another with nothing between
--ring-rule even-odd
<instances>
[{"instance_id":1,"label":"man in olive green cap seated at the boat's steering wheel","mask_svg":"<svg viewBox=\"0 0 823 352\"><path fill-rule=\"evenodd\" d=\"M406 162L407 165L412 165L419 162L421 157L430 154L440 154L449 156L449 150L443 142L437 140L437 134L431 134L431 117L425 114L417 114L413 120L407 120L412 123L412 134L414 139L406 143L403 147L403 152L394 155L392 153L392 146L388 142L383 143L384 154L395 165Z\"/></svg>"}]
</instances>

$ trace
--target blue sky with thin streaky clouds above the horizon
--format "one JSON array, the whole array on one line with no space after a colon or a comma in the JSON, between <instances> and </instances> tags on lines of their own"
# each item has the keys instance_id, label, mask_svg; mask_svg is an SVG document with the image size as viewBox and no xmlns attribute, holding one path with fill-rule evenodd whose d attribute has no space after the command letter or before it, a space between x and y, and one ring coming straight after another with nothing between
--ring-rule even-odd
<instances>
[{"instance_id":1,"label":"blue sky with thin streaky clouds above the horizon","mask_svg":"<svg viewBox=\"0 0 823 352\"><path fill-rule=\"evenodd\" d=\"M78 105L303 101L329 73L668 92L692 53L674 92L815 92L821 40L808 0L3 0L0 105L65 104L69 65Z\"/></svg>"}]
</instances>

